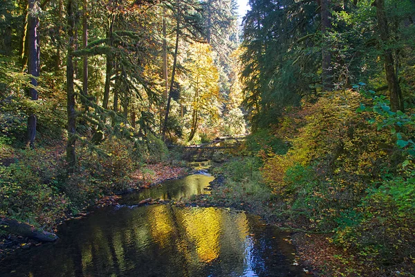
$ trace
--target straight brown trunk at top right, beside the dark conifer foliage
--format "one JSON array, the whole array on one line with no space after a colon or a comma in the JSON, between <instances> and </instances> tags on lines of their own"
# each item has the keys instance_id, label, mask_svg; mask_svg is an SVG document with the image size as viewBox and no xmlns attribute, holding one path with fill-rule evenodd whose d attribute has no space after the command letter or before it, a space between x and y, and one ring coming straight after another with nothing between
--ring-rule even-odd
<instances>
[{"instance_id":1,"label":"straight brown trunk at top right, beside the dark conifer foliage","mask_svg":"<svg viewBox=\"0 0 415 277\"><path fill-rule=\"evenodd\" d=\"M331 28L329 1L321 0L320 8L322 37L324 41L322 43L322 83L325 91L331 91L333 89L333 68L331 66L330 46L325 43L327 30Z\"/></svg>"}]
</instances>

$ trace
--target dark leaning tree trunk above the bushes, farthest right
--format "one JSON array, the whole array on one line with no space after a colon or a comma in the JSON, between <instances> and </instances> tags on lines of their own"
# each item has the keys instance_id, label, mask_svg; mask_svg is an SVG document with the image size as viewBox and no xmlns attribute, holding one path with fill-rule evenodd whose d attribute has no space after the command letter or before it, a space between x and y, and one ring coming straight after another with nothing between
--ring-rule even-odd
<instances>
[{"instance_id":1,"label":"dark leaning tree trunk above the bushes, farthest right","mask_svg":"<svg viewBox=\"0 0 415 277\"><path fill-rule=\"evenodd\" d=\"M392 49L387 45L389 38L389 29L387 26L387 17L385 12L385 1L375 0L374 6L376 6L376 17L378 19L378 31L382 46L385 48L383 51L385 59L385 72L387 87L389 89L389 99L391 101L392 111L403 111L403 100L401 100L401 92L398 81L398 76L395 70L394 55L392 55Z\"/></svg>"}]
</instances>

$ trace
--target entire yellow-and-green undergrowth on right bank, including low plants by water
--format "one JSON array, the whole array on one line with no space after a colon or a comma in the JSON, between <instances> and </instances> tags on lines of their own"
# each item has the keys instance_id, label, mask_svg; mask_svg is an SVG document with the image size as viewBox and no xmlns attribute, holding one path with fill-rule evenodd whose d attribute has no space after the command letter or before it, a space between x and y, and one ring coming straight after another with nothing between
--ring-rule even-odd
<instances>
[{"instance_id":1,"label":"entire yellow-and-green undergrowth on right bank, including low plants by water","mask_svg":"<svg viewBox=\"0 0 415 277\"><path fill-rule=\"evenodd\" d=\"M340 270L327 269L329 276L412 276L415 117L360 92L335 91L287 110L271 131L279 148L248 139L241 157L216 169L226 177L216 197L326 233L347 253L337 259Z\"/></svg>"}]
</instances>

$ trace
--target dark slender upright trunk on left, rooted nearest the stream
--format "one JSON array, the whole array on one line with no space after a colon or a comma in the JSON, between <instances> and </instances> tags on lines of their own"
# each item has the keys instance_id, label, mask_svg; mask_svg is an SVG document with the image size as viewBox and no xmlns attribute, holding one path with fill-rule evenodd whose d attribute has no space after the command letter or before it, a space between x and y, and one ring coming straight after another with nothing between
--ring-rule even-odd
<instances>
[{"instance_id":1,"label":"dark slender upright trunk on left, rooted nearest the stream","mask_svg":"<svg viewBox=\"0 0 415 277\"><path fill-rule=\"evenodd\" d=\"M68 143L66 144L66 161L68 163L68 172L75 171L76 164L76 112L75 112L75 90L73 89L73 60L72 53L75 49L75 10L77 8L76 0L68 0L68 55L66 60L66 111L68 113Z\"/></svg>"}]
</instances>

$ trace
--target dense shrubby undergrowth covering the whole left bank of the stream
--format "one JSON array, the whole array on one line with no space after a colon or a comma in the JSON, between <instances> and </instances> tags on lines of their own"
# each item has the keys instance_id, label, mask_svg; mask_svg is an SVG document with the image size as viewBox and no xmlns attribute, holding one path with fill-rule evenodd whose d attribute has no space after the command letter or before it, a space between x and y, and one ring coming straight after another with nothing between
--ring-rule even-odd
<instances>
[{"instance_id":1,"label":"dense shrubby undergrowth covering the whole left bank of the stream","mask_svg":"<svg viewBox=\"0 0 415 277\"><path fill-rule=\"evenodd\" d=\"M135 143L107 135L91 145L86 126L76 145L75 172L68 174L65 123L55 119L66 117L64 100L46 94L33 104L16 93L6 95L0 97L0 215L50 230L100 197L136 187L134 170L167 158L165 144L152 134ZM25 134L33 111L38 118L36 146L29 149Z\"/></svg>"}]
</instances>

